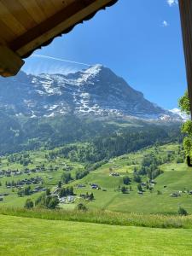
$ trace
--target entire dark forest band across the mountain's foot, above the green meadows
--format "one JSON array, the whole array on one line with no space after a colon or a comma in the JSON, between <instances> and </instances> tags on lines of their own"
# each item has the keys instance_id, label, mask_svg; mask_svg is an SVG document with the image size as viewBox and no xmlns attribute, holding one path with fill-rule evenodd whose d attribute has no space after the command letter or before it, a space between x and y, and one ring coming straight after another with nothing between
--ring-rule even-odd
<instances>
[{"instance_id":1,"label":"entire dark forest band across the mountain's foot, above the green meadows","mask_svg":"<svg viewBox=\"0 0 192 256\"><path fill-rule=\"evenodd\" d=\"M120 122L116 120L116 122ZM139 121L137 121L139 123ZM73 113L62 117L25 119L13 118L0 112L0 154L33 150L40 147L55 148L68 143L89 142L95 145L90 154L84 155L79 148L70 150L71 160L100 161L127 152L127 148L137 150L154 143L182 141L178 125L160 126L147 125L140 121L143 127L123 127L108 120L83 118ZM131 134L131 136L129 136ZM147 136L147 135L151 135ZM145 136L146 135L146 136ZM132 137L132 139L131 139ZM125 138L125 139L124 139ZM134 143L135 141L135 143ZM99 154L99 148L101 153ZM106 150L103 151L103 149ZM111 148L109 150L109 148ZM96 159L94 154L96 153ZM26 160L24 160L26 165Z\"/></svg>"}]
</instances>

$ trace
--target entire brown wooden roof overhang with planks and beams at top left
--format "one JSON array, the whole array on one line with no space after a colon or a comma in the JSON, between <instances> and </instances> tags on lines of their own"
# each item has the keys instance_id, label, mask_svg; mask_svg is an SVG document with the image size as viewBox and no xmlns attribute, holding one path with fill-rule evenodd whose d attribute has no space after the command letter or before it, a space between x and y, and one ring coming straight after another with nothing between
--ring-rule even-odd
<instances>
[{"instance_id":1,"label":"entire brown wooden roof overhang with planks and beams at top left","mask_svg":"<svg viewBox=\"0 0 192 256\"><path fill-rule=\"evenodd\" d=\"M0 75L15 75L35 49L117 1L0 0Z\"/></svg>"}]
</instances>

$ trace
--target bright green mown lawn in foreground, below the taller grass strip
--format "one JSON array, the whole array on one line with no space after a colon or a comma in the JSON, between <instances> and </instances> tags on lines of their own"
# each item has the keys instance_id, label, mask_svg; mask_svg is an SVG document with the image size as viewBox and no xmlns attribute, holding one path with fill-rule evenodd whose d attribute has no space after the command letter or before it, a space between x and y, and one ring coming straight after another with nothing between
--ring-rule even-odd
<instances>
[{"instance_id":1,"label":"bright green mown lawn in foreground, below the taller grass strip","mask_svg":"<svg viewBox=\"0 0 192 256\"><path fill-rule=\"evenodd\" d=\"M192 230L0 215L0 255L192 255Z\"/></svg>"}]
</instances>

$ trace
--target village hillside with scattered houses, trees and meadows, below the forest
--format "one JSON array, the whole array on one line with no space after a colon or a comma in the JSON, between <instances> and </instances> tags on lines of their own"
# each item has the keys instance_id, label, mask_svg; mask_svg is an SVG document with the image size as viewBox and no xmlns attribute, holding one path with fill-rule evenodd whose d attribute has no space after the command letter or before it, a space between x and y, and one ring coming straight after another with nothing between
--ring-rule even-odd
<instances>
[{"instance_id":1,"label":"village hillside with scattered houses, trees and meadows, below the forest","mask_svg":"<svg viewBox=\"0 0 192 256\"><path fill-rule=\"evenodd\" d=\"M131 207L138 208L137 201L142 197L143 201L156 201L152 211L159 212L159 199L177 198L178 203L191 201L192 188L187 179L185 185L178 183L177 187L170 183L174 175L184 173L183 151L177 144L125 154L108 160L94 171L87 171L83 163L59 156L49 159L49 154L51 152L28 152L1 158L1 204L22 207L27 198L35 204L47 189L49 197L58 201L57 207L70 209L83 204L90 209L121 211L126 205L124 211L130 211ZM25 159L28 164L20 164L18 158ZM165 206L166 211L172 205L174 201Z\"/></svg>"}]
</instances>

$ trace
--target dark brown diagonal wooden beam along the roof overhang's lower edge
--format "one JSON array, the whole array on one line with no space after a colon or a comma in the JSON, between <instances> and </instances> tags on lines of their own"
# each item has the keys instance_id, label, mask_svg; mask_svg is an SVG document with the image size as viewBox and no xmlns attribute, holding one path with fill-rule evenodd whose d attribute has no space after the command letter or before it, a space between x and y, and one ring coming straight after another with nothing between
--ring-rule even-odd
<instances>
[{"instance_id":1,"label":"dark brown diagonal wooden beam along the roof overhang's lower edge","mask_svg":"<svg viewBox=\"0 0 192 256\"><path fill-rule=\"evenodd\" d=\"M38 46L49 41L51 38L61 34L79 21L89 15L94 14L98 9L106 6L112 0L81 0L74 1L64 9L38 26L25 32L9 44L9 48L14 50L21 57L38 48Z\"/></svg>"}]
</instances>

